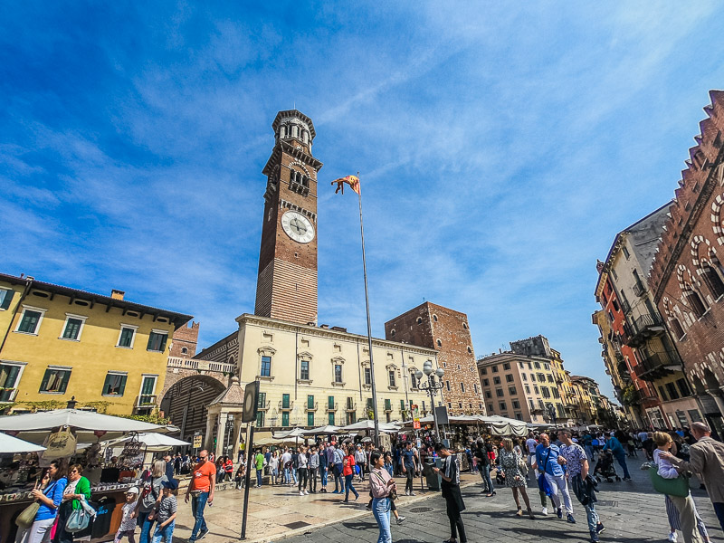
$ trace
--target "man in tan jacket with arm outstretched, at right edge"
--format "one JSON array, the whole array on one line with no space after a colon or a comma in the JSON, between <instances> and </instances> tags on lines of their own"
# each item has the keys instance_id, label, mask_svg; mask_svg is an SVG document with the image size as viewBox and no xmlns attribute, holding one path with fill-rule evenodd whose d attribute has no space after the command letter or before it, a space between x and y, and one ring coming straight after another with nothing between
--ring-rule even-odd
<instances>
[{"instance_id":1,"label":"man in tan jacket with arm outstretched, at right edge","mask_svg":"<svg viewBox=\"0 0 724 543\"><path fill-rule=\"evenodd\" d=\"M712 439L711 428L704 423L691 424L691 435L696 443L689 448L689 462L671 452L659 452L659 456L672 462L677 470L689 470L700 477L724 530L724 443Z\"/></svg>"}]
</instances>

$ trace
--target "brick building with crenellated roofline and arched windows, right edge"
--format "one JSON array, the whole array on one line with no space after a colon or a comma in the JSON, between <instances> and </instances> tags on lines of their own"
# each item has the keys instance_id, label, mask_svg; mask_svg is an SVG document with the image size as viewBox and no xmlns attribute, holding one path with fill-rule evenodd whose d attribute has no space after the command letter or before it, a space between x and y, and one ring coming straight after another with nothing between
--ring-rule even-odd
<instances>
[{"instance_id":1,"label":"brick building with crenellated roofline and arched windows, right edge","mask_svg":"<svg viewBox=\"0 0 724 543\"><path fill-rule=\"evenodd\" d=\"M724 435L724 91L710 91L708 118L669 207L649 285L708 422Z\"/></svg>"}]
</instances>

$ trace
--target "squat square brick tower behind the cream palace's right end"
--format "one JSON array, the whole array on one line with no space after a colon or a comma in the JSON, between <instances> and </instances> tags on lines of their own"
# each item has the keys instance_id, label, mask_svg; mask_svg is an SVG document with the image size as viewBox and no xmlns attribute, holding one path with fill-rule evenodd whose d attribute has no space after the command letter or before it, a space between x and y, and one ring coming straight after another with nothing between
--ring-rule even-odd
<instances>
[{"instance_id":1,"label":"squat square brick tower behind the cream palace's right end","mask_svg":"<svg viewBox=\"0 0 724 543\"><path fill-rule=\"evenodd\" d=\"M445 370L443 402L450 413L485 414L465 313L426 301L387 321L385 336L392 341L437 349L438 366Z\"/></svg>"}]
</instances>

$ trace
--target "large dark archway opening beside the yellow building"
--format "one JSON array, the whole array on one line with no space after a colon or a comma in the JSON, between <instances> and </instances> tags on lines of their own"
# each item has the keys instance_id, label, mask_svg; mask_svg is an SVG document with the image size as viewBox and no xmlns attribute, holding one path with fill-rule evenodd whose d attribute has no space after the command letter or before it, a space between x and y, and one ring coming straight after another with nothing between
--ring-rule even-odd
<instances>
[{"instance_id":1,"label":"large dark archway opening beside the yellow building","mask_svg":"<svg viewBox=\"0 0 724 543\"><path fill-rule=\"evenodd\" d=\"M206 405L224 390L224 385L212 376L187 376L167 390L161 410L171 424L181 429L181 439L193 443L195 432L205 433Z\"/></svg>"}]
</instances>

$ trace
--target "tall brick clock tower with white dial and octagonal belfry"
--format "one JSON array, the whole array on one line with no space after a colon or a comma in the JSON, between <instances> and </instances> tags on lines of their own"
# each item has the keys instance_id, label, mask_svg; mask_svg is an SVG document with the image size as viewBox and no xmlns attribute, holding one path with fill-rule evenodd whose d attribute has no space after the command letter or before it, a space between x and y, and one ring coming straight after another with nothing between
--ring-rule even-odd
<instances>
[{"instance_id":1,"label":"tall brick clock tower with white dial and octagonal belfry","mask_svg":"<svg viewBox=\"0 0 724 543\"><path fill-rule=\"evenodd\" d=\"M262 170L267 183L254 313L316 324L317 172L322 167L311 155L316 132L297 110L280 111L271 128L276 144Z\"/></svg>"}]
</instances>

